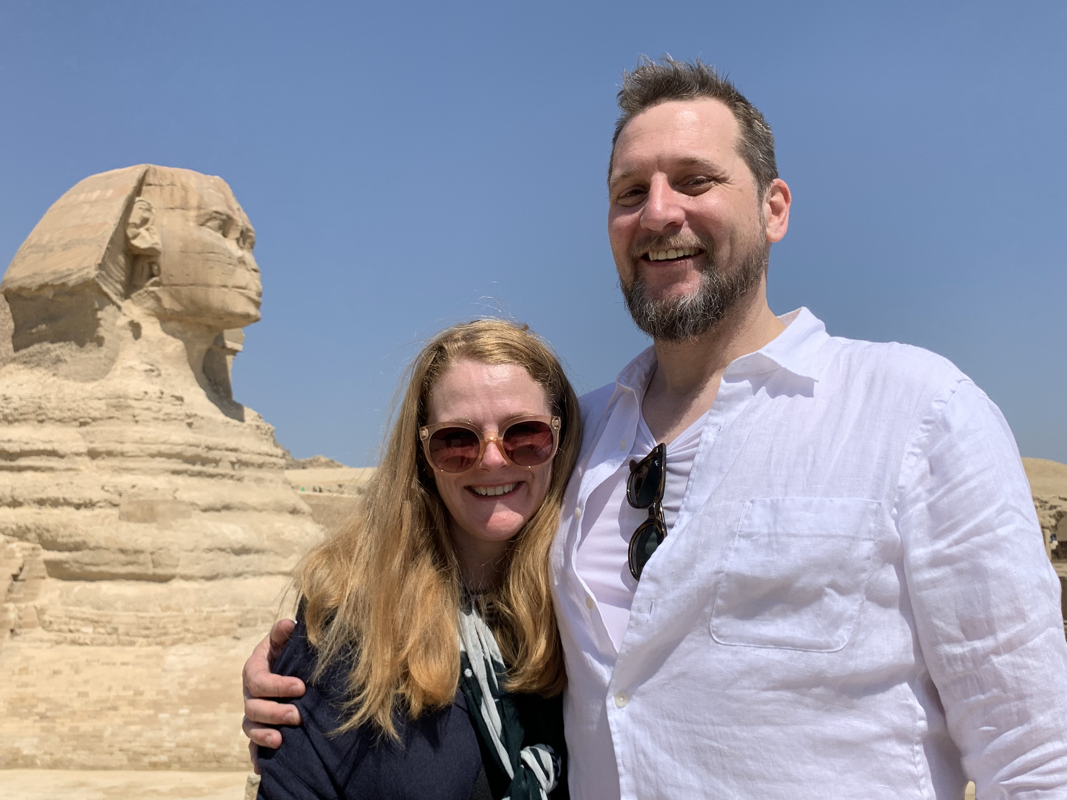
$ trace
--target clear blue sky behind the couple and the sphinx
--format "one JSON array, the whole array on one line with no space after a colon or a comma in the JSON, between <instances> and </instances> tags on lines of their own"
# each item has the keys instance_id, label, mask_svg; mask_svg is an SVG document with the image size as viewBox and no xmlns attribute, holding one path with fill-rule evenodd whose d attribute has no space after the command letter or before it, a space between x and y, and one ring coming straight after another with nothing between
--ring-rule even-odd
<instances>
[{"instance_id":1,"label":"clear blue sky behind the couple and the sphinx","mask_svg":"<svg viewBox=\"0 0 1067 800\"><path fill-rule=\"evenodd\" d=\"M86 175L221 175L265 290L238 399L299 457L372 463L445 324L527 321L582 389L646 347L605 234L615 93L639 53L699 57L778 138L771 307L945 355L1067 462L1065 42L1039 0L6 0L0 261Z\"/></svg>"}]
</instances>

